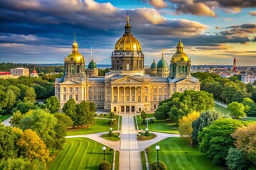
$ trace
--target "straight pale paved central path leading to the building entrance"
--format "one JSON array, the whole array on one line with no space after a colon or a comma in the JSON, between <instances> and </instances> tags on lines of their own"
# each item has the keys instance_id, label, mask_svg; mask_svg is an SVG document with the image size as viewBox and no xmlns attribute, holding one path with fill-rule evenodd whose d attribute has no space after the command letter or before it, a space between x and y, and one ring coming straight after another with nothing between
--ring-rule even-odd
<instances>
[{"instance_id":1,"label":"straight pale paved central path leading to the building entrance","mask_svg":"<svg viewBox=\"0 0 256 170\"><path fill-rule=\"evenodd\" d=\"M134 127L133 115L122 115L121 145L119 154L119 169L140 170L142 160Z\"/></svg>"}]
</instances>

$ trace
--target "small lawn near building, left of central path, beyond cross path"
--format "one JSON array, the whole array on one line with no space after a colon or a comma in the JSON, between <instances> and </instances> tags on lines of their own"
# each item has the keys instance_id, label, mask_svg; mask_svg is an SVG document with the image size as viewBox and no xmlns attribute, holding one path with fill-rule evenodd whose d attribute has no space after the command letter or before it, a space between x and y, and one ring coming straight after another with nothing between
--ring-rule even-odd
<instances>
[{"instance_id":1,"label":"small lawn near building, left of central path, beyond cross path","mask_svg":"<svg viewBox=\"0 0 256 170\"><path fill-rule=\"evenodd\" d=\"M108 132L110 130L110 125L108 125L108 119L95 119L96 124L90 125L89 128L75 128L70 129L67 135L87 135L97 132ZM117 130L117 123L112 127L113 130Z\"/></svg>"}]
</instances>

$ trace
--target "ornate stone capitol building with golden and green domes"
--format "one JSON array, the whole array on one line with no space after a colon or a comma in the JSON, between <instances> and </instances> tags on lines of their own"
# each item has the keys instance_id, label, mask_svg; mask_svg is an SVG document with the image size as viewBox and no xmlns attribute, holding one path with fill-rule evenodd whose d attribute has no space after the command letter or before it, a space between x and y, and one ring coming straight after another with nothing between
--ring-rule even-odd
<instances>
[{"instance_id":1,"label":"ornate stone capitol building with golden and green domes","mask_svg":"<svg viewBox=\"0 0 256 170\"><path fill-rule=\"evenodd\" d=\"M98 76L94 60L85 70L85 58L78 52L78 43L73 42L73 50L64 60L65 73L55 80L55 96L61 106L74 98L77 103L92 101L97 108L114 113L150 113L176 91L200 91L201 82L191 77L191 58L183 52L181 38L170 64L163 52L157 64L152 62L150 74L145 74L146 56L132 35L128 15L124 28L124 35L114 45L110 72L104 77Z\"/></svg>"}]
</instances>

